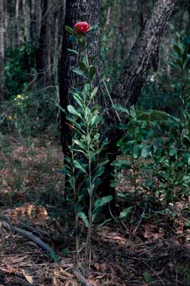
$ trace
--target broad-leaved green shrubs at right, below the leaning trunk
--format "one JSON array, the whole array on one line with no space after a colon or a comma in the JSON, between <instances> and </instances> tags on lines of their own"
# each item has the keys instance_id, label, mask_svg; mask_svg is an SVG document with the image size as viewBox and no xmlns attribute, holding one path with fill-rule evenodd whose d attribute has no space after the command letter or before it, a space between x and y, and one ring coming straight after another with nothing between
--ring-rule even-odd
<instances>
[{"instance_id":1,"label":"broad-leaved green shrubs at right, below the leaning trunk","mask_svg":"<svg viewBox=\"0 0 190 286\"><path fill-rule=\"evenodd\" d=\"M119 194L128 202L128 207L120 214L122 218L129 216L137 204L146 210L157 208L159 214L176 217L179 201L182 201L182 211L189 218L189 48L190 38L177 33L170 57L176 75L172 88L179 100L177 117L159 110L127 110L115 105L119 112L125 112L128 120L127 125L119 126L124 129L125 136L117 142L122 157L114 162L117 175L112 182L114 186L120 184L122 178L131 182L129 194L124 191Z\"/></svg>"}]
</instances>

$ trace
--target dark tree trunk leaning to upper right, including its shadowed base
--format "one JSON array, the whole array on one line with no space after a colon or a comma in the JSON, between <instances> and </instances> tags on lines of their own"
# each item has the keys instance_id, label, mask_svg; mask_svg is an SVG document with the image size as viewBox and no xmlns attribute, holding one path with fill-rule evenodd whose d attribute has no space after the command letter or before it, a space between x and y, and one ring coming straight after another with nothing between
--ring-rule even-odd
<instances>
[{"instance_id":1,"label":"dark tree trunk leaning to upper right, including its shadowed base","mask_svg":"<svg viewBox=\"0 0 190 286\"><path fill-rule=\"evenodd\" d=\"M111 97L113 102L126 108L135 105L137 102L140 90L151 67L152 57L155 51L157 51L157 47L167 28L167 23L171 17L175 3L175 0L158 0L154 4L152 14L147 20L147 23L145 23L142 31L140 31L132 47L130 57L120 75L120 79L115 85L114 90L112 90ZM105 103L105 107L109 108L107 103ZM124 123L125 118L123 118L122 115L120 115L120 118ZM117 157L116 143L122 135L120 131L114 129L114 125L118 123L116 113L112 109L110 102L110 109L107 113L107 125L113 125L113 128L110 128L110 131L107 132L110 143L105 150L110 162L105 166L105 174L107 174L107 176L104 181L102 181L100 188L102 188L105 196L111 194L113 198L115 198L115 189L110 187L110 180L112 179L112 174L114 174L114 168L110 166L110 164ZM111 210L112 213L115 213L115 199L112 201Z\"/></svg>"}]
</instances>

